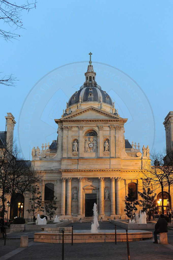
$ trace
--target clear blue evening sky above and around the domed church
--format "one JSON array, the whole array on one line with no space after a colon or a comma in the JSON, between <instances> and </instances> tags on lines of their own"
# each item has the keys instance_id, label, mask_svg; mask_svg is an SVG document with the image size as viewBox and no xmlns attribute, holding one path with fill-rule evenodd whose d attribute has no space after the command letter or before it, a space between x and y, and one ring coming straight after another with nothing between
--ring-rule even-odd
<instances>
[{"instance_id":1,"label":"clear blue evening sky above and around the domed church","mask_svg":"<svg viewBox=\"0 0 173 260\"><path fill-rule=\"evenodd\" d=\"M38 145L41 148L42 142L51 143L56 139L57 125L53 119L46 123L46 113L50 114L54 102L59 112L55 114L62 114L66 101L85 81L84 72L91 51L92 64L98 72L96 81L113 95L120 116L129 118L131 122L125 126L125 138L130 143L140 142L141 148L149 145L151 150L162 150L165 147L163 121L173 110L172 13L172 1L38 0L36 9L22 12L25 29L17 30L21 37L12 42L0 38L0 71L2 75L12 73L18 79L15 87L0 86L0 130L5 130L4 116L11 112L17 122L14 136L24 158L29 158L29 147L32 149ZM3 28L2 22L0 26ZM29 137L26 136L21 129L29 120L24 118L28 93L33 89L36 91L38 82L46 79L52 71L58 72L59 67L68 68L65 64L69 63L74 69L76 63L81 66L82 73L68 75L68 80L66 75L56 86L50 86L48 99L40 99L34 111L32 131ZM121 91L118 83L114 85L111 80L104 80L99 75L101 66L109 72L113 68L116 73L124 75L123 79L133 82L136 91L138 88L148 116L149 136L146 141L142 129L144 119L139 117L135 100L129 99L128 93ZM59 100L57 103L56 99ZM45 124L50 127L45 127ZM28 142L27 146L25 142Z\"/></svg>"}]
</instances>

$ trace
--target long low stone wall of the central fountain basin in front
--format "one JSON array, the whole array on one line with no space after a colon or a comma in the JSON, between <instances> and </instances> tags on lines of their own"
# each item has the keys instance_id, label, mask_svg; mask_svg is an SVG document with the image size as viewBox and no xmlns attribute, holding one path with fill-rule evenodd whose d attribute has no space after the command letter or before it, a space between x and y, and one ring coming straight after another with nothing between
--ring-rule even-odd
<instances>
[{"instance_id":1,"label":"long low stone wall of the central fountain basin in front","mask_svg":"<svg viewBox=\"0 0 173 260\"><path fill-rule=\"evenodd\" d=\"M128 233L129 242L144 239L151 239L152 232ZM62 233L35 233L35 242L62 243ZM64 234L64 243L72 242L72 234ZM73 243L96 243L96 242L115 242L115 233L73 233ZM126 242L126 233L117 233L117 242Z\"/></svg>"}]
</instances>

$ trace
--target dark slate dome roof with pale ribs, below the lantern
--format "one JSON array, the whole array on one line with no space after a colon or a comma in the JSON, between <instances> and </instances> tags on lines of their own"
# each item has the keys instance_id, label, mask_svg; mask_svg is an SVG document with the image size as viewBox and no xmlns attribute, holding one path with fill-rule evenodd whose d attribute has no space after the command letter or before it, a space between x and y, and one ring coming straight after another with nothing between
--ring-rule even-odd
<instances>
[{"instance_id":1,"label":"dark slate dome roof with pale ribs, below the lantern","mask_svg":"<svg viewBox=\"0 0 173 260\"><path fill-rule=\"evenodd\" d=\"M87 86L89 85L89 86ZM91 86L90 86L91 85ZM76 91L68 101L68 107L80 102L103 102L113 106L112 99L106 91L101 90L99 85L86 84L80 87L79 91Z\"/></svg>"}]
</instances>

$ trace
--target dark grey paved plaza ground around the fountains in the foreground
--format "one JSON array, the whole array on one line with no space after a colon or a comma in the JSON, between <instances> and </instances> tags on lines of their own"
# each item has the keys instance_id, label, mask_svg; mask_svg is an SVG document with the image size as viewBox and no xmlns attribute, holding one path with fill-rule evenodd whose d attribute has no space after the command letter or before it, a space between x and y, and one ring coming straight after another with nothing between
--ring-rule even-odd
<instances>
[{"instance_id":1,"label":"dark grey paved plaza ground around the fountains in the foreground","mask_svg":"<svg viewBox=\"0 0 173 260\"><path fill-rule=\"evenodd\" d=\"M71 226L71 225L68 225ZM114 225L109 222L100 223L100 229L113 229ZM74 230L91 228L91 222L73 223ZM120 229L119 227L117 227ZM154 231L154 230L148 230ZM12 232L8 233L8 239L4 246L4 240L0 240L0 260L61 260L61 244L39 243L29 239L28 248L19 248L21 235L32 237L35 231L30 232ZM10 238L10 239L9 239ZM144 241L130 242L130 259L131 260L172 260L173 255L173 230L168 231L169 245L153 244L153 239ZM127 259L126 242L114 243L81 243L65 244L64 259L67 260L124 260Z\"/></svg>"}]
</instances>

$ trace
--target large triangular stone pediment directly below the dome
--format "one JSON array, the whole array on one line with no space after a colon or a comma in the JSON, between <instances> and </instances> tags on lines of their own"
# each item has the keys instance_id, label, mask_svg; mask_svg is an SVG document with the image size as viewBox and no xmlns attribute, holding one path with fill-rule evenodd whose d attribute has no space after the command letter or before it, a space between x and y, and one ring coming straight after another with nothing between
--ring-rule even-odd
<instances>
[{"instance_id":1,"label":"large triangular stone pediment directly below the dome","mask_svg":"<svg viewBox=\"0 0 173 260\"><path fill-rule=\"evenodd\" d=\"M109 113L107 111L90 106L85 109L75 111L61 118L62 121L68 119L122 119L122 118L112 113Z\"/></svg>"}]
</instances>

